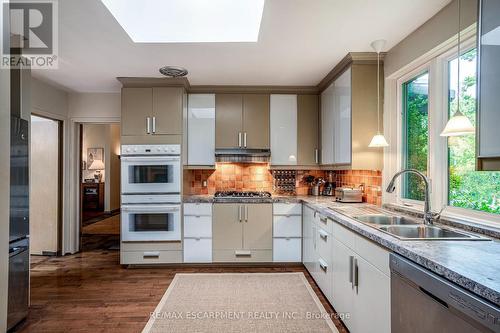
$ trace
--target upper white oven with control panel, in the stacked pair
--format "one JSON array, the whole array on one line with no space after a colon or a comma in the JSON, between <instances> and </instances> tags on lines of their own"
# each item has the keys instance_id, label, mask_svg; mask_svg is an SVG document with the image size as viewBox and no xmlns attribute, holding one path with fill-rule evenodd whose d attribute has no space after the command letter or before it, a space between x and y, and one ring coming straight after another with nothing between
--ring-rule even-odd
<instances>
[{"instance_id":1,"label":"upper white oven with control panel, in the stacked pair","mask_svg":"<svg viewBox=\"0 0 500 333\"><path fill-rule=\"evenodd\" d=\"M122 194L180 193L180 145L123 145Z\"/></svg>"}]
</instances>

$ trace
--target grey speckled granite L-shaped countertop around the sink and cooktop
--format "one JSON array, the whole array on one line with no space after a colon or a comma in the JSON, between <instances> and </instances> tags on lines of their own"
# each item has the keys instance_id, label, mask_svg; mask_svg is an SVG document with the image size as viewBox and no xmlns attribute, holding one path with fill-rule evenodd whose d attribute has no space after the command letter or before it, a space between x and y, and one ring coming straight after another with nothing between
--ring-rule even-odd
<instances>
[{"instance_id":1,"label":"grey speckled granite L-shaped countertop around the sink and cooktop","mask_svg":"<svg viewBox=\"0 0 500 333\"><path fill-rule=\"evenodd\" d=\"M212 195L203 195L186 196L184 202L221 201L214 199ZM334 202L331 197L273 196L252 201L231 199L230 202L302 202L357 234L500 306L500 241L498 240L400 240L353 219L353 216L360 214L383 211L391 213L390 211L366 203Z\"/></svg>"}]
</instances>

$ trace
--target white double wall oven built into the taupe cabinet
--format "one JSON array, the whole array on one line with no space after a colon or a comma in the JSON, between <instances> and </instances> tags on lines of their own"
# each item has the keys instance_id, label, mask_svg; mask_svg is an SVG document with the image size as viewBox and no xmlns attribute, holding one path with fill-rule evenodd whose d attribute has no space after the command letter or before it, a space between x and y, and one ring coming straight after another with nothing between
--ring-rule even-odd
<instances>
[{"instance_id":1,"label":"white double wall oven built into the taupe cabinet","mask_svg":"<svg viewBox=\"0 0 500 333\"><path fill-rule=\"evenodd\" d=\"M181 240L180 149L122 146L122 241Z\"/></svg>"}]
</instances>

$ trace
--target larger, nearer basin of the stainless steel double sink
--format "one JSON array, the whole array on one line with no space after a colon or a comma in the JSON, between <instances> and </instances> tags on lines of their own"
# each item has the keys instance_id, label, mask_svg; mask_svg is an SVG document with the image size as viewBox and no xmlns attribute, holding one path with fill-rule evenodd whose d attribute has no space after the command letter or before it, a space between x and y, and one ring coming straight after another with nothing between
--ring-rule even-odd
<instances>
[{"instance_id":1,"label":"larger, nearer basin of the stainless steel double sink","mask_svg":"<svg viewBox=\"0 0 500 333\"><path fill-rule=\"evenodd\" d=\"M432 225L388 225L381 226L379 230L385 231L401 239L423 240L487 240L467 233L453 231Z\"/></svg>"}]
</instances>

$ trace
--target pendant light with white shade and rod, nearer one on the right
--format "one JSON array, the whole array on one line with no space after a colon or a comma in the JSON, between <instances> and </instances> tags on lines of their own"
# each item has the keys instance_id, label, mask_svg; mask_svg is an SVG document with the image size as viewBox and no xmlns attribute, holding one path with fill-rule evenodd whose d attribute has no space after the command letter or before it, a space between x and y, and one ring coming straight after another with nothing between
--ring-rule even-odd
<instances>
[{"instance_id":1,"label":"pendant light with white shade and rod, nearer one on the right","mask_svg":"<svg viewBox=\"0 0 500 333\"><path fill-rule=\"evenodd\" d=\"M441 136L462 136L475 133L474 126L462 112L460 112L460 0L458 2L458 45L457 45L457 112L451 117Z\"/></svg>"}]
</instances>

